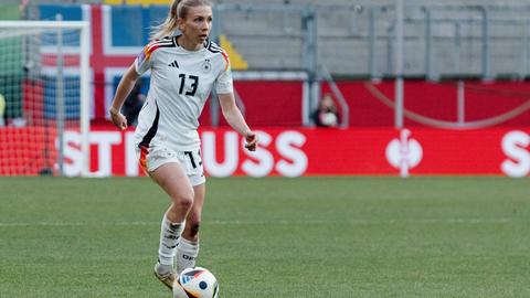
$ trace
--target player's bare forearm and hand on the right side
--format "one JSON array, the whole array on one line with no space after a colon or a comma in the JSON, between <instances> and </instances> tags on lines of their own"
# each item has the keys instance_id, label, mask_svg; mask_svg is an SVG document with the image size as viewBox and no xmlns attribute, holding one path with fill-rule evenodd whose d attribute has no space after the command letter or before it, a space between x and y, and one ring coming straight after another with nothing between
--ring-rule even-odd
<instances>
[{"instance_id":1,"label":"player's bare forearm and hand on the right side","mask_svg":"<svg viewBox=\"0 0 530 298\"><path fill-rule=\"evenodd\" d=\"M256 134L251 130L240 108L235 105L234 93L219 94L218 96L219 103L221 103L221 110L229 125L245 138L245 148L250 151L255 151L257 148Z\"/></svg>"}]
</instances>

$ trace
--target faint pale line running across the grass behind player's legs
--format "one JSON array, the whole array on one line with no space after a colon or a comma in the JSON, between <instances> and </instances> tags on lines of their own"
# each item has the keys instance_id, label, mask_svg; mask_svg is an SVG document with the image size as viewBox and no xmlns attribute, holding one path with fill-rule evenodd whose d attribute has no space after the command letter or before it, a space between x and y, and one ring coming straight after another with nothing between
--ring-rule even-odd
<instances>
[{"instance_id":1,"label":"faint pale line running across the grass behind player's legs","mask_svg":"<svg viewBox=\"0 0 530 298\"><path fill-rule=\"evenodd\" d=\"M421 219L421 220L350 220L350 221L204 221L204 224L214 225L293 225L293 224L502 224L516 222L515 219ZM0 227L31 227L31 226L123 226L123 225L160 225L159 222L33 222L33 223L2 223Z\"/></svg>"}]
</instances>

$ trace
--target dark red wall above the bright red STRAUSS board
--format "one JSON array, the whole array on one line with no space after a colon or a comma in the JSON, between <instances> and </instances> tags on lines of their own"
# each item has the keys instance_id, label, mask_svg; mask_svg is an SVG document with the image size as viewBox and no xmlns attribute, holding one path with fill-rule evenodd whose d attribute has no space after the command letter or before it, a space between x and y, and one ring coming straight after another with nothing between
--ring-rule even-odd
<instances>
[{"instance_id":1,"label":"dark red wall above the bright red STRAUSS board","mask_svg":"<svg viewBox=\"0 0 530 298\"><path fill-rule=\"evenodd\" d=\"M351 128L394 127L393 81L339 81L337 86L349 107ZM480 129L530 126L528 81L467 81L463 86L459 98L458 84L455 82L405 81L404 125L447 128L437 124L446 123L453 128L462 125ZM234 87L244 104L245 119L252 127L303 125L303 82L235 81ZM322 84L324 93L331 93L328 84ZM331 94L338 99L337 94ZM342 111L338 100L336 104ZM465 125L458 124L459 120ZM211 125L208 107L201 124ZM222 117L221 124L225 124Z\"/></svg>"}]
</instances>

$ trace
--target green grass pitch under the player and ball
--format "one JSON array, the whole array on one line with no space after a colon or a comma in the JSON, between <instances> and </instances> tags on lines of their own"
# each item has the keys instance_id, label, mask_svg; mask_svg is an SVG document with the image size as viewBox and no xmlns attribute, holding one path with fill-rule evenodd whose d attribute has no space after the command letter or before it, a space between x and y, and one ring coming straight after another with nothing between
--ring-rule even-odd
<instances>
[{"instance_id":1,"label":"green grass pitch under the player and ball","mask_svg":"<svg viewBox=\"0 0 530 298\"><path fill-rule=\"evenodd\" d=\"M0 297L171 297L146 178L0 178ZM530 297L530 180L209 179L222 298Z\"/></svg>"}]
</instances>

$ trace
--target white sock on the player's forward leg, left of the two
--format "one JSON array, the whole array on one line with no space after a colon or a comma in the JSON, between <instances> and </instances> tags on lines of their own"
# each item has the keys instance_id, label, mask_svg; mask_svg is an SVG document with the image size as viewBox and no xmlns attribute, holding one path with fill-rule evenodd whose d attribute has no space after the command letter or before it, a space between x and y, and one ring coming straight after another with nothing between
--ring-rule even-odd
<instances>
[{"instance_id":1,"label":"white sock on the player's forward leg, left of the two","mask_svg":"<svg viewBox=\"0 0 530 298\"><path fill-rule=\"evenodd\" d=\"M177 253L180 234L182 233L183 223L171 223L166 214L162 219L160 227L160 244L158 247L158 262L162 266L173 266L173 257Z\"/></svg>"}]
</instances>

